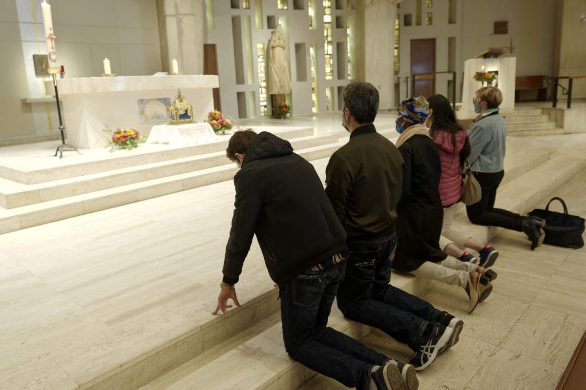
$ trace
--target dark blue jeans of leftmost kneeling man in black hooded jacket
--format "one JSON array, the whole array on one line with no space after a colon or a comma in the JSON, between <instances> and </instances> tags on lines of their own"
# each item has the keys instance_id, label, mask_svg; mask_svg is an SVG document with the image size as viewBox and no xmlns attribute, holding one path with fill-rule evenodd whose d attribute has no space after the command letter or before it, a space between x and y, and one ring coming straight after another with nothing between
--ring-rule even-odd
<instances>
[{"instance_id":1,"label":"dark blue jeans of leftmost kneeling man in black hooded jacket","mask_svg":"<svg viewBox=\"0 0 586 390\"><path fill-rule=\"evenodd\" d=\"M326 327L346 264L297 275L281 289L285 350L305 367L343 385L366 389L373 365L389 358L352 337Z\"/></svg>"}]
</instances>

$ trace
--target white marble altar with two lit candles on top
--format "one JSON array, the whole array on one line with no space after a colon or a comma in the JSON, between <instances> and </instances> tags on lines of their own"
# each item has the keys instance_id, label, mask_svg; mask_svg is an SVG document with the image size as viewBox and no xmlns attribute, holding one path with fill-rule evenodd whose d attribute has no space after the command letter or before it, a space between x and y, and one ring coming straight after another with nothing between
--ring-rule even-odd
<instances>
[{"instance_id":1,"label":"white marble altar with two lit candles on top","mask_svg":"<svg viewBox=\"0 0 586 390\"><path fill-rule=\"evenodd\" d=\"M193 118L203 121L213 110L212 88L219 86L217 76L118 76L63 78L57 80L63 101L67 143L76 148L106 146L103 129L137 129L148 135L153 123L141 124L139 99L169 98L178 88L193 106Z\"/></svg>"}]
</instances>

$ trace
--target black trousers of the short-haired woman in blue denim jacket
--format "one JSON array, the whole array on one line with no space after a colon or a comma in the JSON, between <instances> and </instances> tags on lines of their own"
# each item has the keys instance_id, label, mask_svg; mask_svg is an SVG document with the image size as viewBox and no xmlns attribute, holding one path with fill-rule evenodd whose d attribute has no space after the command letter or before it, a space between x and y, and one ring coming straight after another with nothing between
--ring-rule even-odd
<instances>
[{"instance_id":1,"label":"black trousers of the short-haired woman in blue denim jacket","mask_svg":"<svg viewBox=\"0 0 586 390\"><path fill-rule=\"evenodd\" d=\"M496 189L505 176L502 170L496 173L475 172L474 177L482 188L482 199L471 206L466 206L466 213L471 223L485 226L498 226L505 229L521 231L523 217L516 213L495 208Z\"/></svg>"}]
</instances>

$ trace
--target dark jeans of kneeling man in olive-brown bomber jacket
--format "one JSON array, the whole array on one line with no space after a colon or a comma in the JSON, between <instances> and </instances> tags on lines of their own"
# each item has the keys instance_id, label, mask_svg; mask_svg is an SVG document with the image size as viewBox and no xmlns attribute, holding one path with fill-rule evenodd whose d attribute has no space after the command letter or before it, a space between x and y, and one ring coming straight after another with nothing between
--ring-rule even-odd
<instances>
[{"instance_id":1,"label":"dark jeans of kneeling man in olive-brown bomber jacket","mask_svg":"<svg viewBox=\"0 0 586 390\"><path fill-rule=\"evenodd\" d=\"M376 327L417 351L429 321L441 312L389 285L397 235L346 241L346 245L350 256L338 289L338 307L344 316Z\"/></svg>"}]
</instances>

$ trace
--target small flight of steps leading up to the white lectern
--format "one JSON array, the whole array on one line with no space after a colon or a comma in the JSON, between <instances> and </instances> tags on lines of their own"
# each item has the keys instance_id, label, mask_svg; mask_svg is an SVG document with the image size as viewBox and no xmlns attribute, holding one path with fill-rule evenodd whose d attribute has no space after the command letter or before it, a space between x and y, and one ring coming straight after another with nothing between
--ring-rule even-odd
<instances>
[{"instance_id":1,"label":"small flight of steps leading up to the white lectern","mask_svg":"<svg viewBox=\"0 0 586 390\"><path fill-rule=\"evenodd\" d=\"M551 121L541 108L516 109L506 115L507 131L510 136L536 136L564 134L562 128Z\"/></svg>"}]
</instances>

